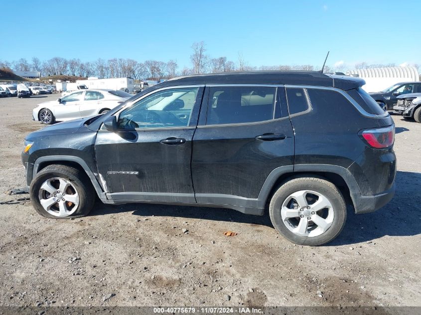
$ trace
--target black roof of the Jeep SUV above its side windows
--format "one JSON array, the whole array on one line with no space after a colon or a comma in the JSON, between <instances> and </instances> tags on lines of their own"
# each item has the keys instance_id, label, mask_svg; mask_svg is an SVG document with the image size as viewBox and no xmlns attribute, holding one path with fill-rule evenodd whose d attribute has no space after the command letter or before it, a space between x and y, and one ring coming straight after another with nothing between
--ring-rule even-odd
<instances>
[{"instance_id":1,"label":"black roof of the Jeep SUV above its side windows","mask_svg":"<svg viewBox=\"0 0 421 315\"><path fill-rule=\"evenodd\" d=\"M360 78L322 74L317 71L244 71L176 77L155 85L154 88L195 84L290 84L350 90L364 85L365 81Z\"/></svg>"}]
</instances>

